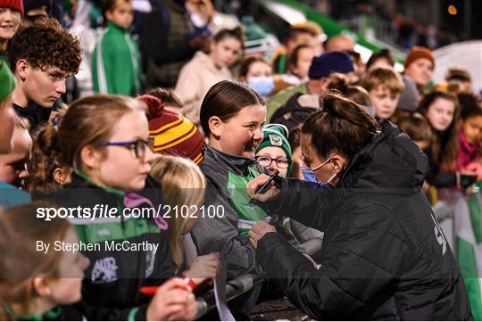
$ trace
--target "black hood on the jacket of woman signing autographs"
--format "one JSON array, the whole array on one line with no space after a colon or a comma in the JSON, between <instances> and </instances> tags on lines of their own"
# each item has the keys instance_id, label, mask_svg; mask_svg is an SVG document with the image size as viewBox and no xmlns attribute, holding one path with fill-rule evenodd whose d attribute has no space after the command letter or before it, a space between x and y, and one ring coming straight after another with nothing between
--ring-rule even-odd
<instances>
[{"instance_id":1,"label":"black hood on the jacket of woman signing autographs","mask_svg":"<svg viewBox=\"0 0 482 322\"><path fill-rule=\"evenodd\" d=\"M414 194L420 191L427 171L427 156L403 129L386 121L381 132L353 157L338 187Z\"/></svg>"}]
</instances>

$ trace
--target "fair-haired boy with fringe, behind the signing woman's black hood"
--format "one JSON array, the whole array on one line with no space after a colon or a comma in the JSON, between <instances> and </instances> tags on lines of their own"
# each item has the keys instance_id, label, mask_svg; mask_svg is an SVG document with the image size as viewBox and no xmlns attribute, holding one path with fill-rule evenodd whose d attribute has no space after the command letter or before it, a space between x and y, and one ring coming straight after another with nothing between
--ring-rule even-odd
<instances>
[{"instance_id":1,"label":"fair-haired boy with fringe, behind the signing woman's black hood","mask_svg":"<svg viewBox=\"0 0 482 322\"><path fill-rule=\"evenodd\" d=\"M363 79L362 87L369 92L378 122L389 120L403 92L402 78L394 70L377 68Z\"/></svg>"}]
</instances>

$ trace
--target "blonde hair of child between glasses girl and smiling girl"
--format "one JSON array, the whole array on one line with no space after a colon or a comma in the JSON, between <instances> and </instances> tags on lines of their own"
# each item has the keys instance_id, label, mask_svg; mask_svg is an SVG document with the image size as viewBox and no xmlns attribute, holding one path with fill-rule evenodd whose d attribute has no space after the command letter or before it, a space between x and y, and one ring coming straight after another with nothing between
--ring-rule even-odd
<instances>
[{"instance_id":1,"label":"blonde hair of child between glasses girl and smiling girl","mask_svg":"<svg viewBox=\"0 0 482 322\"><path fill-rule=\"evenodd\" d=\"M201 169L191 160L160 155L154 160L151 176L161 182L164 200L170 207L197 207L204 202L206 179ZM180 238L188 220L183 216L175 216L169 221L170 252L178 269L183 264Z\"/></svg>"}]
</instances>

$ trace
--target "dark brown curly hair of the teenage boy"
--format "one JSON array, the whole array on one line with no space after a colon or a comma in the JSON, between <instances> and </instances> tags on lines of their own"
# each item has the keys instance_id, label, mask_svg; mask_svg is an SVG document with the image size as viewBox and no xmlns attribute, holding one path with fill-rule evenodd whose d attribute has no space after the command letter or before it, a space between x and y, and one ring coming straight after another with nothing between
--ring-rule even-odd
<instances>
[{"instance_id":1,"label":"dark brown curly hair of the teenage boy","mask_svg":"<svg viewBox=\"0 0 482 322\"><path fill-rule=\"evenodd\" d=\"M12 38L8 56L12 70L20 59L34 68L46 70L56 67L77 73L82 58L79 39L53 18L41 17L34 22L24 22Z\"/></svg>"}]
</instances>

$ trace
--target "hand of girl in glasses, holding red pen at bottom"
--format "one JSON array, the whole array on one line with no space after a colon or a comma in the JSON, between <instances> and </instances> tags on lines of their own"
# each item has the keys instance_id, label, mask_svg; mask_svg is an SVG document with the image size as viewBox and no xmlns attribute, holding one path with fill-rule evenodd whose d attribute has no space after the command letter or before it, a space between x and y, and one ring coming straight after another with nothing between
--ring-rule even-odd
<instances>
[{"instance_id":1,"label":"hand of girl in glasses, holding red pen at bottom","mask_svg":"<svg viewBox=\"0 0 482 322\"><path fill-rule=\"evenodd\" d=\"M193 320L197 305L180 278L171 278L157 288L145 312L147 321Z\"/></svg>"}]
</instances>

